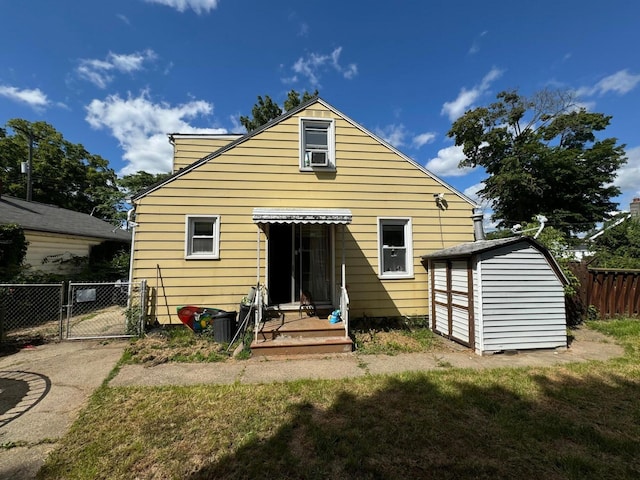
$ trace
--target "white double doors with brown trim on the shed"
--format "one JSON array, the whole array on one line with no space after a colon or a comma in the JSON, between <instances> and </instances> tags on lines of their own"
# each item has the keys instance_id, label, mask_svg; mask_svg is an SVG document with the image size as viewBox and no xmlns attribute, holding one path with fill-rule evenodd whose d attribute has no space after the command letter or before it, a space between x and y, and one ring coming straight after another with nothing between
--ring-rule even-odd
<instances>
[{"instance_id":1,"label":"white double doors with brown trim on the shed","mask_svg":"<svg viewBox=\"0 0 640 480\"><path fill-rule=\"evenodd\" d=\"M431 262L431 328L473 347L473 281L471 259Z\"/></svg>"}]
</instances>

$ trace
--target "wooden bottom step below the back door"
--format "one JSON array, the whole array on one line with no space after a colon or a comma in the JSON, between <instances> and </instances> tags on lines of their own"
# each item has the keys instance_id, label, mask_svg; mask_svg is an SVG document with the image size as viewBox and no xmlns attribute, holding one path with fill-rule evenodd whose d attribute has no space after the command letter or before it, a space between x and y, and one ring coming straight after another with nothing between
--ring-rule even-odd
<instances>
[{"instance_id":1,"label":"wooden bottom step below the back door","mask_svg":"<svg viewBox=\"0 0 640 480\"><path fill-rule=\"evenodd\" d=\"M279 335L274 339L251 343L251 354L254 356L269 355L307 355L314 353L349 353L353 350L353 342L349 337L289 337Z\"/></svg>"}]
</instances>

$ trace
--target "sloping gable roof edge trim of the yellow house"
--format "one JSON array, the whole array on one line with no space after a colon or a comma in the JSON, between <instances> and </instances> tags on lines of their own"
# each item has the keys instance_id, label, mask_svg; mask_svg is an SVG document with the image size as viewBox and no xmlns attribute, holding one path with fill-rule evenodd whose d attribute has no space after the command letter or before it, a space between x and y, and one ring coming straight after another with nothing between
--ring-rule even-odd
<instances>
[{"instance_id":1,"label":"sloping gable roof edge trim of the yellow house","mask_svg":"<svg viewBox=\"0 0 640 480\"><path fill-rule=\"evenodd\" d=\"M306 108L308 108L309 106L313 105L314 103L320 103L321 105L323 105L325 108L327 108L328 110L331 110L334 114L342 117L345 121L349 122L351 125L353 125L354 127L360 129L361 131L363 131L364 133L366 133L367 135L369 135L370 137L376 139L378 142L380 142L382 145L386 146L387 148L389 148L390 150L392 150L393 152L395 152L397 155L399 155L400 157L402 157L404 160L406 160L407 162L411 163L412 165L414 165L418 170L423 171L426 175L428 175L429 177L431 177L433 180L435 180L436 182L438 182L439 184L441 184L443 187L446 187L447 189L451 190L452 192L455 192L460 198L462 198L463 200L465 200L466 202L468 202L469 204L473 205L474 207L477 207L477 203L474 202L471 198L467 197L464 193L457 191L454 187L452 187L451 185L449 185L448 183L444 182L442 179L438 178L436 175L434 175L433 173L431 173L429 170L427 170L424 166L420 165L418 162L416 162L415 160L413 160L412 158L406 156L404 153L400 152L398 149L396 149L393 145L389 144L388 142L384 141L383 139L381 139L380 137L378 137L377 135L375 135L374 133L370 132L369 130L367 130L366 128L364 128L362 125L360 125L359 123L351 120L349 117L347 117L344 113L340 112L338 109L336 109L335 107L333 107L332 105L328 104L327 102L325 102L324 100L322 100L320 97L313 97L310 100L301 103L300 105L298 105L295 108L292 108L291 110L288 110L287 112L284 112L282 115L280 115L277 118L274 118L270 121L268 121L267 123L265 123L264 125L261 125L260 127L256 128L255 130L252 130L251 132L248 132L247 134L241 136L240 138L230 142L229 144L225 145L224 147L216 150L215 152L212 152L211 154L201 158L200 160L192 163L191 165L189 165L188 167L185 167L183 169L178 170L177 172L175 172L173 175L167 177L166 179L164 179L161 182L158 182L155 185L150 186L149 188L147 188L146 190L143 190L141 192L136 193L133 197L132 197L132 201L136 201L144 196L146 196L147 194L157 190L158 188L172 182L175 178L178 178L182 175L184 175L185 173L188 173L192 170L194 170L195 168L198 168L200 165L202 165L203 163L208 162L211 159L214 159L216 157L218 157L219 155L222 155L224 152L227 152L229 150L231 150L232 148L234 148L236 145L239 145L243 142L246 142L247 140L249 140L250 138L256 136L257 134L259 134L260 132L267 130L268 128L272 127L273 125L276 125L280 122L282 122L283 120L286 120L296 114L298 114L299 112L305 110ZM172 135L177 135L177 134L172 134ZM170 135L171 137L171 135Z\"/></svg>"}]
</instances>

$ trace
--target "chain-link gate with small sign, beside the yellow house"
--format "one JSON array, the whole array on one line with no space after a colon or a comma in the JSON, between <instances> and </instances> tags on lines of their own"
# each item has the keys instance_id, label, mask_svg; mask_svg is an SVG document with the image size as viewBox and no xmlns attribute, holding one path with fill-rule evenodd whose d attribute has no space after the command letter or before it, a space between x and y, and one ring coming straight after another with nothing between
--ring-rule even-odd
<instances>
[{"instance_id":1,"label":"chain-link gate with small sign, beside the yellow house","mask_svg":"<svg viewBox=\"0 0 640 480\"><path fill-rule=\"evenodd\" d=\"M123 338L144 330L146 281L69 283L62 338Z\"/></svg>"}]
</instances>

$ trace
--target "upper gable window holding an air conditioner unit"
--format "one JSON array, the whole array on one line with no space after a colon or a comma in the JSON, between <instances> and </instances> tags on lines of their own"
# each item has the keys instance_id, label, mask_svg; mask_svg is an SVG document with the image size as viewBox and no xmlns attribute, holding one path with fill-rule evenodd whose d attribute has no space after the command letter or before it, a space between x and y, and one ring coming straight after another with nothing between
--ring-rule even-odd
<instances>
[{"instance_id":1,"label":"upper gable window holding an air conditioner unit","mask_svg":"<svg viewBox=\"0 0 640 480\"><path fill-rule=\"evenodd\" d=\"M300 119L300 170L335 170L335 126L329 119Z\"/></svg>"}]
</instances>

